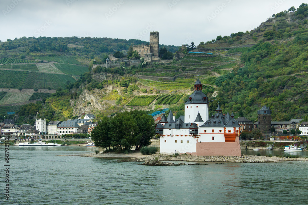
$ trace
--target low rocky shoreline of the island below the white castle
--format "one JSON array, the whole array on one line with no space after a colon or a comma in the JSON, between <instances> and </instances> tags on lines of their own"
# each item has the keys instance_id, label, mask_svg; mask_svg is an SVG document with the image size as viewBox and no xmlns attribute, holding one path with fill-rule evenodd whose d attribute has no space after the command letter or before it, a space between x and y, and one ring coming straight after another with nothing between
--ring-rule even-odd
<instances>
[{"instance_id":1,"label":"low rocky shoreline of the island below the white castle","mask_svg":"<svg viewBox=\"0 0 308 205\"><path fill-rule=\"evenodd\" d=\"M158 157L159 161L184 161L184 162L237 162L237 163L269 163L269 162L283 162L283 161L308 161L308 158L286 158L286 157L268 157L268 156L255 156L255 155L243 155L243 156L194 156L194 155L142 155L140 152L134 152L131 154L117 154L117 153L89 153L82 155L58 155L58 156L82 156L82 157L99 157L105 159L118 159L122 162L145 162L154 160ZM156 158L157 159L157 158Z\"/></svg>"}]
</instances>

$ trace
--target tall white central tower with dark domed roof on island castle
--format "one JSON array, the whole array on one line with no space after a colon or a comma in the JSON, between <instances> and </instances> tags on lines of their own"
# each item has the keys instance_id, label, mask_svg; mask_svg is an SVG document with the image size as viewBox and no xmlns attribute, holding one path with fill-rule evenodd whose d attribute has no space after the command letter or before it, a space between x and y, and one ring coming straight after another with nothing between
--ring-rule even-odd
<instances>
[{"instance_id":1,"label":"tall white central tower with dark domed roof on island castle","mask_svg":"<svg viewBox=\"0 0 308 205\"><path fill-rule=\"evenodd\" d=\"M197 118L197 115L201 116L204 120L203 122L209 119L209 98L202 93L202 84L198 79L194 84L195 91L188 97L188 101L185 102L185 122L194 122ZM203 123L200 123L200 125ZM198 126L200 126L198 124Z\"/></svg>"}]
</instances>

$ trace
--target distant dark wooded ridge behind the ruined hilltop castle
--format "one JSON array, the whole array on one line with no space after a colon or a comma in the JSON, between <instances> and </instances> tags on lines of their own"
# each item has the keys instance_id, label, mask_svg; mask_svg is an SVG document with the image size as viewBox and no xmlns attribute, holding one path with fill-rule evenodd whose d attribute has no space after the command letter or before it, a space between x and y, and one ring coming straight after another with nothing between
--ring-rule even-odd
<instances>
[{"instance_id":1,"label":"distant dark wooded ridge behind the ruined hilltop castle","mask_svg":"<svg viewBox=\"0 0 308 205\"><path fill-rule=\"evenodd\" d=\"M116 51L128 51L129 46L148 44L137 39L99 38L99 37L22 37L0 41L1 57L31 59L37 56L74 55L93 59L112 54ZM161 45L175 52L178 46Z\"/></svg>"}]
</instances>

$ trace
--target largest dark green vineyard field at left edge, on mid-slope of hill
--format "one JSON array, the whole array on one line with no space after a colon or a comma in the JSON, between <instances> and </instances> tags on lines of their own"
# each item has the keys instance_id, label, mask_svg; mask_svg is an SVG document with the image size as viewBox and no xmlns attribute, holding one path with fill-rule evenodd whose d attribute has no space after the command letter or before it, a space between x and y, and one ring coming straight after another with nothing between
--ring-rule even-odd
<instances>
[{"instance_id":1,"label":"largest dark green vineyard field at left edge, on mid-slope of hill","mask_svg":"<svg viewBox=\"0 0 308 205\"><path fill-rule=\"evenodd\" d=\"M0 70L0 76L1 88L58 89L64 88L67 81L76 82L70 75L29 71Z\"/></svg>"}]
</instances>

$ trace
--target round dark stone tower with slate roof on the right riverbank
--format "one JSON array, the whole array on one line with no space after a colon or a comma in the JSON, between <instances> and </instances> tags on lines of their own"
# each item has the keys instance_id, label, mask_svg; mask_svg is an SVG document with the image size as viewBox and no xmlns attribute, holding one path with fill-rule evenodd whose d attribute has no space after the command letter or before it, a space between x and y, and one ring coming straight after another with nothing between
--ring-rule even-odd
<instances>
[{"instance_id":1,"label":"round dark stone tower with slate roof on the right riverbank","mask_svg":"<svg viewBox=\"0 0 308 205\"><path fill-rule=\"evenodd\" d=\"M258 127L263 134L270 133L272 111L265 105L258 111Z\"/></svg>"}]
</instances>

